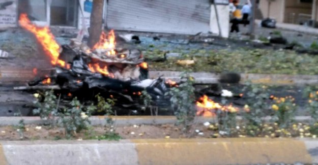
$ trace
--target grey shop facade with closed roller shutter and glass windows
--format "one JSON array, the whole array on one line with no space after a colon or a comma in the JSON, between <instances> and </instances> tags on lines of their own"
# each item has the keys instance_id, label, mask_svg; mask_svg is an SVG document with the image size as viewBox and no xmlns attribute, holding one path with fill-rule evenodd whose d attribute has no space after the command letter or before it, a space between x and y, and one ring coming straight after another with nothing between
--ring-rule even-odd
<instances>
[{"instance_id":1,"label":"grey shop facade with closed roller shutter and glass windows","mask_svg":"<svg viewBox=\"0 0 318 165\"><path fill-rule=\"evenodd\" d=\"M228 36L228 0L105 0L103 21L108 28L118 30L197 34L219 32L216 11ZM93 0L0 0L2 27L18 26L18 16L26 13L41 26L82 28L90 26ZM1 9L4 6L4 9ZM215 9L217 9L215 11ZM4 13L4 14L3 14Z\"/></svg>"}]
</instances>

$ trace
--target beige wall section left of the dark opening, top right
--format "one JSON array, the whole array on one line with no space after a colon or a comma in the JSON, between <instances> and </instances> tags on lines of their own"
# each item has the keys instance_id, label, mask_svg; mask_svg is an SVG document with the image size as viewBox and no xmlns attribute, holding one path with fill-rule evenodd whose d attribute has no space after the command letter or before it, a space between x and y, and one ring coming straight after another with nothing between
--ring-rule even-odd
<instances>
[{"instance_id":1,"label":"beige wall section left of the dark opening, top right","mask_svg":"<svg viewBox=\"0 0 318 165\"><path fill-rule=\"evenodd\" d=\"M292 1L292 0L287 0ZM285 0L276 0L274 2L271 2L270 6L270 18L276 19L278 23L282 23L284 21L284 7L285 7ZM261 9L261 12L264 16L264 18L267 18L268 16L268 0L260 0L259 1L259 9Z\"/></svg>"}]
</instances>

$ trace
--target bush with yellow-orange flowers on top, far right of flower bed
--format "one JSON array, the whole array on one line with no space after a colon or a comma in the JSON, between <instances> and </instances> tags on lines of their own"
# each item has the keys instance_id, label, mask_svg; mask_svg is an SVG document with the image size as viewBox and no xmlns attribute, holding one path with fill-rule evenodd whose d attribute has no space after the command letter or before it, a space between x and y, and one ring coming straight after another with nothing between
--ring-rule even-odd
<instances>
[{"instance_id":1,"label":"bush with yellow-orange flowers on top, far right of flower bed","mask_svg":"<svg viewBox=\"0 0 318 165\"><path fill-rule=\"evenodd\" d=\"M285 128L291 125L294 121L295 111L297 109L294 103L295 98L288 97L274 97L275 104L272 105L272 109L275 111L273 120L279 127Z\"/></svg>"}]
</instances>

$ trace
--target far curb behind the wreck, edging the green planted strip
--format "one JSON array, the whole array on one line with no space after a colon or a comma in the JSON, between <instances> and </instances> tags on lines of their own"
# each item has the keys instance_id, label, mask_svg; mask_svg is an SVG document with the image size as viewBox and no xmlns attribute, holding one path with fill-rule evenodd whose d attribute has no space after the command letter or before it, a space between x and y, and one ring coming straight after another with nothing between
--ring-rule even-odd
<instances>
[{"instance_id":1,"label":"far curb behind the wreck, edging the green planted strip","mask_svg":"<svg viewBox=\"0 0 318 165\"><path fill-rule=\"evenodd\" d=\"M176 71L149 71L149 78L156 79L163 76L166 79L180 81L182 72ZM190 73L195 78L197 84L214 84L218 83L220 74L208 72L194 72ZM252 83L275 84L275 85L306 85L317 84L318 76L315 75L280 75L280 74L240 74L241 84L246 81ZM32 70L0 70L0 83L3 84L23 84L34 78Z\"/></svg>"}]
</instances>

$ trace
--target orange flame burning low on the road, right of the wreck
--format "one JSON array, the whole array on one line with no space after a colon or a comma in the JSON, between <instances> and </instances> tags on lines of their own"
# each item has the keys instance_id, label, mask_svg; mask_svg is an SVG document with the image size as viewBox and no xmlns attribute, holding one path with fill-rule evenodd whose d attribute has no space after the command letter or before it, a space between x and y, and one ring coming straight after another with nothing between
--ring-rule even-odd
<instances>
[{"instance_id":1,"label":"orange flame burning low on the road, right of the wreck","mask_svg":"<svg viewBox=\"0 0 318 165\"><path fill-rule=\"evenodd\" d=\"M219 103L215 103L211 100L207 95L204 95L199 98L199 101L196 102L197 112L196 115L202 115L205 117L215 116L214 110L227 111L231 113L238 112L238 108L229 105L229 106L221 106Z\"/></svg>"}]
</instances>

